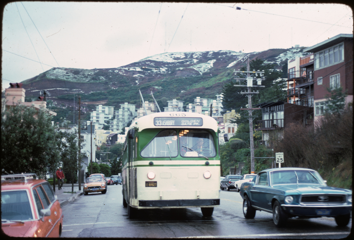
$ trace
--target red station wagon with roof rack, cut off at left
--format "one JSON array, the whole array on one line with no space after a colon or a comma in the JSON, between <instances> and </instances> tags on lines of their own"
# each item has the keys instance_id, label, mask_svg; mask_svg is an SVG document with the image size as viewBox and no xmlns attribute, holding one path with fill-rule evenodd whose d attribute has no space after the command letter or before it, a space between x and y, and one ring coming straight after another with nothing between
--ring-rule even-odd
<instances>
[{"instance_id":1,"label":"red station wagon with roof rack, cut off at left","mask_svg":"<svg viewBox=\"0 0 354 240\"><path fill-rule=\"evenodd\" d=\"M1 176L1 229L12 237L58 238L63 211L53 187L34 173Z\"/></svg>"}]
</instances>

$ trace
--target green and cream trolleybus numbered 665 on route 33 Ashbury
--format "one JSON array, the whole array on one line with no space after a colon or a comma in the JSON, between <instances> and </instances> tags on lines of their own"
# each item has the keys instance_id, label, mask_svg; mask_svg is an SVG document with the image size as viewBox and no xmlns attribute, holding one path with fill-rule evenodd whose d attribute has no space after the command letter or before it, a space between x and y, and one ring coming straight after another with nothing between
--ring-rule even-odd
<instances>
[{"instance_id":1,"label":"green and cream trolleybus numbered 665 on route 33 Ashbury","mask_svg":"<svg viewBox=\"0 0 354 240\"><path fill-rule=\"evenodd\" d=\"M188 112L153 113L133 120L122 160L123 206L200 207L212 216L220 204L218 124Z\"/></svg>"}]
</instances>

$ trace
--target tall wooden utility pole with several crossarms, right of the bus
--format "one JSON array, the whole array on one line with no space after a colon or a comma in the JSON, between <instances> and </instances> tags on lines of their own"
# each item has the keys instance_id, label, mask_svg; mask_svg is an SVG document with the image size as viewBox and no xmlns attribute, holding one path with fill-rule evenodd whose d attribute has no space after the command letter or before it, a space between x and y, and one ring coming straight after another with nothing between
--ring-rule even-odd
<instances>
[{"instance_id":1,"label":"tall wooden utility pole with several crossarms, right of the bus","mask_svg":"<svg viewBox=\"0 0 354 240\"><path fill-rule=\"evenodd\" d=\"M261 86L261 81L264 80L264 71L250 71L250 58L249 56L245 56L242 60L242 62L247 61L247 71L240 71L240 70L234 70L234 73L243 73L246 74L246 78L235 78L236 80L239 80L238 85L234 85L235 87L247 87L247 92L240 92L240 94L246 94L248 97L248 108L241 108L240 110L248 110L248 116L245 116L245 118L248 118L249 124L250 124L250 149L251 149L251 173L255 173L255 145L253 142L253 119L256 118L257 116L252 115L252 112L254 110L259 110L261 108L252 108L252 95L253 94L258 94L258 91L251 91L252 87L264 87ZM251 77L251 74L253 77ZM261 78L257 78L257 74ZM241 80L242 82L247 82L247 85L241 85ZM257 81L257 85L253 85L253 80Z\"/></svg>"}]
</instances>

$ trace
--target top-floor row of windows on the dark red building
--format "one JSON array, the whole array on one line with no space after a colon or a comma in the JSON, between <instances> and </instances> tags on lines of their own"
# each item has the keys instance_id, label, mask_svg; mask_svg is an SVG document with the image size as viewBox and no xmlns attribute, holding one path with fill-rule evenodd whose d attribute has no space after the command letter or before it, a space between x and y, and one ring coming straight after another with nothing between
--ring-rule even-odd
<instances>
[{"instance_id":1,"label":"top-floor row of windows on the dark red building","mask_svg":"<svg viewBox=\"0 0 354 240\"><path fill-rule=\"evenodd\" d=\"M327 67L344 61L344 44L338 44L315 53L315 69Z\"/></svg>"}]
</instances>

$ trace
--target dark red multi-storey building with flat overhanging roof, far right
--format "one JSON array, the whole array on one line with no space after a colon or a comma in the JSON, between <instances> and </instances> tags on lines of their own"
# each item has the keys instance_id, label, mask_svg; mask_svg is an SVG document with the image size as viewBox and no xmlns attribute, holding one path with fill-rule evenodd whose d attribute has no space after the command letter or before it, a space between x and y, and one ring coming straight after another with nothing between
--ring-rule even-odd
<instances>
[{"instance_id":1,"label":"dark red multi-storey building with flat overhanging roof, far right","mask_svg":"<svg viewBox=\"0 0 354 240\"><path fill-rule=\"evenodd\" d=\"M304 52L314 54L314 121L324 114L331 91L342 87L346 105L353 103L353 34L338 34Z\"/></svg>"}]
</instances>

